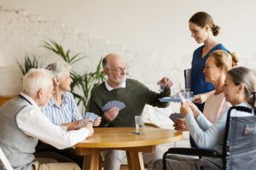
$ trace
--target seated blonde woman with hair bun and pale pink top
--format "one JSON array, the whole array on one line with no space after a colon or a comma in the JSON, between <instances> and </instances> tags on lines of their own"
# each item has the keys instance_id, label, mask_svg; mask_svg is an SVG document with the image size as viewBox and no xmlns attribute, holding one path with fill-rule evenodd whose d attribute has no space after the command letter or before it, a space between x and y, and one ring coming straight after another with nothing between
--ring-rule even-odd
<instances>
[{"instance_id":1,"label":"seated blonde woman with hair bun and pale pink top","mask_svg":"<svg viewBox=\"0 0 256 170\"><path fill-rule=\"evenodd\" d=\"M236 54L229 54L224 50L215 50L207 59L204 74L207 82L212 82L215 92L212 93L205 102L203 114L209 122L216 122L218 117L230 107L230 103L224 99L224 79L227 71L237 65ZM182 132L187 131L187 126L183 118L177 118L174 127Z\"/></svg>"}]
</instances>

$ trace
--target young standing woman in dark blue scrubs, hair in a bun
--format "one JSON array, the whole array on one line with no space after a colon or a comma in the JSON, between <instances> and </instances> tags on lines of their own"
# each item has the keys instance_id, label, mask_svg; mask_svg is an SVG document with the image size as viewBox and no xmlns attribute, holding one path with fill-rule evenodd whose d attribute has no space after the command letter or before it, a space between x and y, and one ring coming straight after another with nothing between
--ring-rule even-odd
<instances>
[{"instance_id":1,"label":"young standing woman in dark blue scrubs, hair in a bun","mask_svg":"<svg viewBox=\"0 0 256 170\"><path fill-rule=\"evenodd\" d=\"M194 94L201 94L195 97L195 103L200 111L203 111L208 92L214 90L211 82L206 82L203 69L206 65L209 54L213 51L222 49L229 52L215 37L218 36L220 27L217 26L212 17L205 12L195 13L189 19L189 30L191 37L195 38L197 43L204 43L201 47L195 49L191 66L191 91Z\"/></svg>"}]
</instances>

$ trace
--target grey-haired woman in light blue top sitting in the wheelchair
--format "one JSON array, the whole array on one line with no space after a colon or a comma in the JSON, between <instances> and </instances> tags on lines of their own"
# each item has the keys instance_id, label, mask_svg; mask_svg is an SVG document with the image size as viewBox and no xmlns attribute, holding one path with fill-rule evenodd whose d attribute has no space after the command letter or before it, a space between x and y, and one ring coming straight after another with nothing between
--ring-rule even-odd
<instances>
[{"instance_id":1,"label":"grey-haired woman in light blue top sitting in the wheelchair","mask_svg":"<svg viewBox=\"0 0 256 170\"><path fill-rule=\"evenodd\" d=\"M245 67L236 67L227 72L224 80L225 100L232 106L241 105L256 109L255 103L256 79L253 71ZM218 120L211 123L191 102L183 102L180 108L190 135L199 148L217 150L222 153L227 109ZM247 112L231 111L230 116L253 116ZM221 158L171 155L166 160L167 169L222 169ZM162 160L154 162L154 169L162 169Z\"/></svg>"}]
</instances>

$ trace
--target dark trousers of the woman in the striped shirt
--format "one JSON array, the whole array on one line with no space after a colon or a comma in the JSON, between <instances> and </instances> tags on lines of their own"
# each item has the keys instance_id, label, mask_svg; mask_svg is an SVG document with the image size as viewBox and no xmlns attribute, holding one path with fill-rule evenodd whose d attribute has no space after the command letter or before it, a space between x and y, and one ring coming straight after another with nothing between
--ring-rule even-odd
<instances>
[{"instance_id":1,"label":"dark trousers of the woman in the striped shirt","mask_svg":"<svg viewBox=\"0 0 256 170\"><path fill-rule=\"evenodd\" d=\"M78 156L74 148L58 150L54 146L38 142L36 147L36 158L52 158L59 162L75 162L83 167L84 156Z\"/></svg>"}]
</instances>

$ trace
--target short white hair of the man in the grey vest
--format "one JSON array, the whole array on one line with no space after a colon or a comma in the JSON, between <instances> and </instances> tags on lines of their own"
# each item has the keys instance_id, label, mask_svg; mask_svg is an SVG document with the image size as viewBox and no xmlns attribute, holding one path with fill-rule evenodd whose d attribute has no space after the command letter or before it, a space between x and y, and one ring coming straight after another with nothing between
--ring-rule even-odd
<instances>
[{"instance_id":1,"label":"short white hair of the man in the grey vest","mask_svg":"<svg viewBox=\"0 0 256 170\"><path fill-rule=\"evenodd\" d=\"M53 83L53 74L45 69L30 69L23 77L23 93L33 96L40 89L49 88Z\"/></svg>"}]
</instances>

